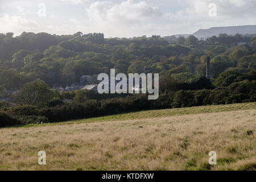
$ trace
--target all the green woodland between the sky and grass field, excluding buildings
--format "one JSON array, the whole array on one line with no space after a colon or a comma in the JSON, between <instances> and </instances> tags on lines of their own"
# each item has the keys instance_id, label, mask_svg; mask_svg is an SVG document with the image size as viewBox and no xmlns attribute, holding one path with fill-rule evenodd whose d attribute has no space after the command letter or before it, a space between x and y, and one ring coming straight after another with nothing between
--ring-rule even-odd
<instances>
[{"instance_id":1,"label":"all the green woodland between the sky and grass field, excluding buildings","mask_svg":"<svg viewBox=\"0 0 256 182\"><path fill-rule=\"evenodd\" d=\"M142 109L253 102L254 41L250 36L226 34L205 40L180 37L171 44L156 35L105 39L103 34L82 32L62 36L23 32L15 38L0 34L0 97L6 97L7 90L19 90L11 96L11 102L19 105L1 108L19 116L22 123L31 123L41 116L55 122ZM237 46L240 42L248 44ZM210 80L205 78L209 55ZM93 91L60 94L50 89L79 82L82 75L93 76L97 84L97 75L109 74L111 68L116 73L159 73L159 99ZM64 103L64 98L75 103Z\"/></svg>"}]
</instances>

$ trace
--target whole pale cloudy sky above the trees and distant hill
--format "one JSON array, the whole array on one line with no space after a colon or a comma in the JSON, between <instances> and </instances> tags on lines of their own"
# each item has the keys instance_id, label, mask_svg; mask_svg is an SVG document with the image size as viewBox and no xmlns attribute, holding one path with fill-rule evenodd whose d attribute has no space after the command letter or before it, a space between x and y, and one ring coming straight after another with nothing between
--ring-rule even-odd
<instances>
[{"instance_id":1,"label":"whole pale cloudy sky above the trees and distant hill","mask_svg":"<svg viewBox=\"0 0 256 182\"><path fill-rule=\"evenodd\" d=\"M256 0L0 0L0 32L105 38L191 34L200 28L256 24Z\"/></svg>"}]
</instances>

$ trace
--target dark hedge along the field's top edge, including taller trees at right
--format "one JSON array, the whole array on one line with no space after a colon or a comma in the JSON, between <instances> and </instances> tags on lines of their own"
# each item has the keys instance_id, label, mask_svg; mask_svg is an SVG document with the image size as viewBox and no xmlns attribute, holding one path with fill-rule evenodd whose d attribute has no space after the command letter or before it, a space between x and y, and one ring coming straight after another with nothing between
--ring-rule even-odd
<instances>
[{"instance_id":1,"label":"dark hedge along the field's top edge, including taller trees at right","mask_svg":"<svg viewBox=\"0 0 256 182\"><path fill-rule=\"evenodd\" d=\"M168 81L168 77L166 79ZM220 84L222 85L222 84ZM147 94L130 94L126 97L94 100L86 96L84 102L65 104L54 98L47 106L18 105L5 109L17 120L5 125L30 124L38 122L59 122L71 119L99 117L131 111L191 107L202 105L234 104L256 102L256 82L238 80L226 87L214 88L206 78L197 78L190 83L170 81L160 89L158 100L148 100ZM75 92L73 92L75 96ZM5 122L8 122L5 120ZM3 125L3 126L5 126Z\"/></svg>"}]
</instances>

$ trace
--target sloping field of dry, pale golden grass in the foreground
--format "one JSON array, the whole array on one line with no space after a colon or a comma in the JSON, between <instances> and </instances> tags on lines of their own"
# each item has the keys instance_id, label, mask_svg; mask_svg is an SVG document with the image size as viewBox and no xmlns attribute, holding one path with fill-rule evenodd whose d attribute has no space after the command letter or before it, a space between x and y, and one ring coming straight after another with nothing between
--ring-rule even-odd
<instances>
[{"instance_id":1,"label":"sloping field of dry, pale golden grass in the foreground","mask_svg":"<svg viewBox=\"0 0 256 182\"><path fill-rule=\"evenodd\" d=\"M256 103L9 127L0 129L0 170L256 170L255 132Z\"/></svg>"}]
</instances>

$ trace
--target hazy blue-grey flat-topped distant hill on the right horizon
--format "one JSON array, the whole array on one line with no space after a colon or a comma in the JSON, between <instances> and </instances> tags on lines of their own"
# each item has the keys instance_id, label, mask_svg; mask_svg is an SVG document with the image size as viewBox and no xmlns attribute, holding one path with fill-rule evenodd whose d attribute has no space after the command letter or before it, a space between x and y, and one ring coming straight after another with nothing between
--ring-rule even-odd
<instances>
[{"instance_id":1,"label":"hazy blue-grey flat-topped distant hill on the right horizon","mask_svg":"<svg viewBox=\"0 0 256 182\"><path fill-rule=\"evenodd\" d=\"M211 36L218 36L220 34L228 35L251 35L256 34L256 25L247 25L247 26L230 26L230 27L212 27L209 29L200 29L193 34L177 34L172 36L165 36L164 39L170 41L174 40L174 36L178 38L179 36L184 36L187 38L189 35L196 36L197 38L209 38Z\"/></svg>"}]
</instances>

